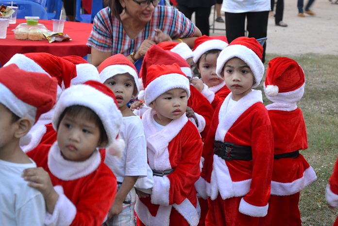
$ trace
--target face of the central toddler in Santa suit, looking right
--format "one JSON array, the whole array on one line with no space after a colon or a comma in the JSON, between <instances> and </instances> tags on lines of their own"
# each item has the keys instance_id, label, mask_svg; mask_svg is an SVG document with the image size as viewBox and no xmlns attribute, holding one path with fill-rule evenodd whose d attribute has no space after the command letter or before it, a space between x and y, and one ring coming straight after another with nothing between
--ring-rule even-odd
<instances>
[{"instance_id":1,"label":"face of the central toddler in Santa suit, looking right","mask_svg":"<svg viewBox=\"0 0 338 226\"><path fill-rule=\"evenodd\" d=\"M186 90L174 88L157 97L150 106L156 111L157 119L165 122L163 125L186 114L187 102Z\"/></svg>"}]
</instances>

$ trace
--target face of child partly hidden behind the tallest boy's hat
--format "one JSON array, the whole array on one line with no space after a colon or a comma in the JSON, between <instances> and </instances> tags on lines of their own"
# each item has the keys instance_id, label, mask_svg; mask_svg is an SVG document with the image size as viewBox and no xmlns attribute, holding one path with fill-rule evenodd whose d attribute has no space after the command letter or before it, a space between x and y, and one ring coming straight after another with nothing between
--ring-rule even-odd
<instances>
[{"instance_id":1,"label":"face of child partly hidden behind the tallest boy's hat","mask_svg":"<svg viewBox=\"0 0 338 226\"><path fill-rule=\"evenodd\" d=\"M198 66L203 83L208 87L214 87L222 82L222 79L216 74L216 62L218 53L208 53L202 55Z\"/></svg>"}]
</instances>

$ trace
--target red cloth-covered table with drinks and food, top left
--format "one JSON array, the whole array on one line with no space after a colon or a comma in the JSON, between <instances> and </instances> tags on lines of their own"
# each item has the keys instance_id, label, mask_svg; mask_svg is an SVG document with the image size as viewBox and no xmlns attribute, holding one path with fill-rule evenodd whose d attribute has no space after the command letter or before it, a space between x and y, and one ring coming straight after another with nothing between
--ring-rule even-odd
<instances>
[{"instance_id":1,"label":"red cloth-covered table with drinks and food, top left","mask_svg":"<svg viewBox=\"0 0 338 226\"><path fill-rule=\"evenodd\" d=\"M16 24L10 24L7 28L7 37L0 39L0 65L4 65L14 54L27 52L49 52L56 56L78 55L84 57L90 53L86 46L93 24L66 21L64 33L72 40L49 43L47 40L31 41L15 39L14 30L19 23L25 23L25 19L17 19ZM39 20L48 30L53 29L51 20Z\"/></svg>"}]
</instances>

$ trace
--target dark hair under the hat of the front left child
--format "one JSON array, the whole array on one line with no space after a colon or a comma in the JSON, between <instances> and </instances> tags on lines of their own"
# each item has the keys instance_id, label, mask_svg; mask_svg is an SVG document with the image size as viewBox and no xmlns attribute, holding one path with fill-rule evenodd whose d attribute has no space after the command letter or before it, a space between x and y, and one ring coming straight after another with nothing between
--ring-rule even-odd
<instances>
[{"instance_id":1,"label":"dark hair under the hat of the front left child","mask_svg":"<svg viewBox=\"0 0 338 226\"><path fill-rule=\"evenodd\" d=\"M92 109L81 105L72 105L67 107L60 115L59 122L57 123L57 128L59 128L60 122L65 117L66 114L71 117L84 117L88 121L95 122L95 124L98 125L100 130L99 142L100 143L108 142L107 133L104 129L102 121Z\"/></svg>"}]
</instances>

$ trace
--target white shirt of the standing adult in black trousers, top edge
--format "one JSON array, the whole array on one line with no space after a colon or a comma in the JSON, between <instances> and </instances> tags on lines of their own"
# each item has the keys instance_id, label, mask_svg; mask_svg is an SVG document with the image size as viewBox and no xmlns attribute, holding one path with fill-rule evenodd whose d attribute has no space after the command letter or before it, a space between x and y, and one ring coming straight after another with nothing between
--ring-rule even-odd
<instances>
[{"instance_id":1,"label":"white shirt of the standing adult in black trousers, top edge","mask_svg":"<svg viewBox=\"0 0 338 226\"><path fill-rule=\"evenodd\" d=\"M245 13L270 11L270 0L223 0L221 11L227 13Z\"/></svg>"}]
</instances>

